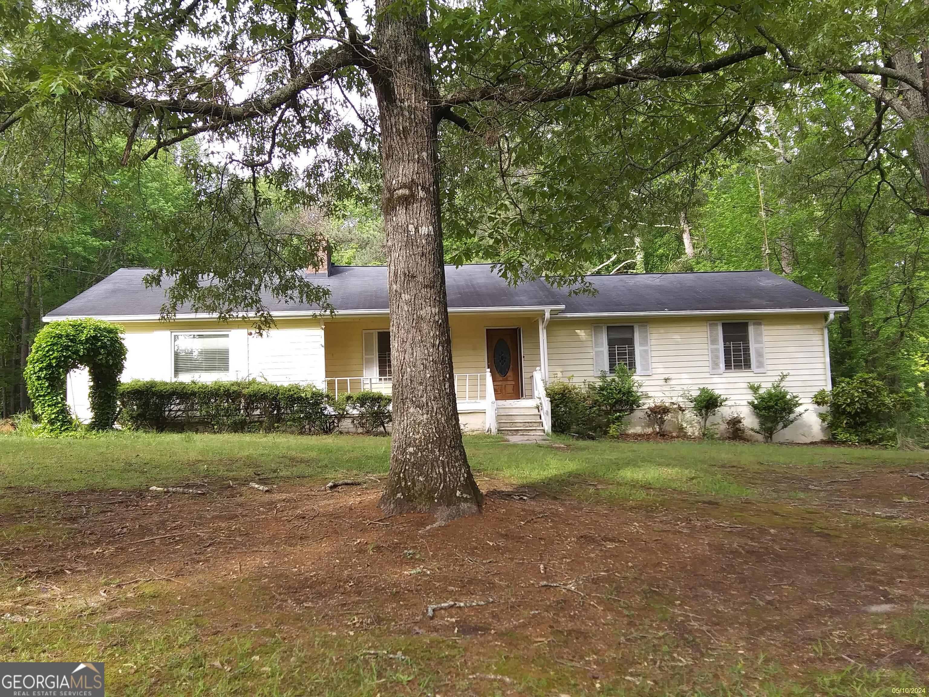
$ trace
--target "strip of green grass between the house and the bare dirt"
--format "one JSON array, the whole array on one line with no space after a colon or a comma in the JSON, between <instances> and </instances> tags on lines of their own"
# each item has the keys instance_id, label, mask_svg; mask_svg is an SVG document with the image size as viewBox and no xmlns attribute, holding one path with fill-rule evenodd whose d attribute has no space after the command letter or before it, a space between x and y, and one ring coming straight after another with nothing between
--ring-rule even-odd
<instances>
[{"instance_id":1,"label":"strip of green grass between the house and the bare dirt","mask_svg":"<svg viewBox=\"0 0 929 697\"><path fill-rule=\"evenodd\" d=\"M465 438L480 475L517 484L570 487L585 480L607 494L752 496L742 483L758 472L820 467L899 468L925 465L922 452L764 445L725 441L562 441L567 449L514 444L491 436ZM188 480L303 477L329 480L383 475L386 438L262 434L112 433L91 438L0 437L0 488L46 491L140 489Z\"/></svg>"}]
</instances>

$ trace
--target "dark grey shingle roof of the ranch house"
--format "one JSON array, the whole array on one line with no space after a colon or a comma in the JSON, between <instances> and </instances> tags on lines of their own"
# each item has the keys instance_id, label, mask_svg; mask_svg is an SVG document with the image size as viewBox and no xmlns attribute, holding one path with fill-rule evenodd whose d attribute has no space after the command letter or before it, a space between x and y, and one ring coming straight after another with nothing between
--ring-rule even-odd
<instances>
[{"instance_id":1,"label":"dark grey shingle roof of the ranch house","mask_svg":"<svg viewBox=\"0 0 929 697\"><path fill-rule=\"evenodd\" d=\"M164 303L164 288L147 289L142 277L149 269L121 269L46 315L64 317L156 317ZM701 273L641 273L588 276L597 293L569 295L543 281L509 285L490 264L445 267L449 309L551 308L562 314L711 312L714 310L843 309L826 296L807 290L770 271ZM341 312L383 312L387 309L386 267L333 267L332 275L316 275L327 286L331 302ZM308 313L316 306L283 304L264 298L272 312ZM190 309L178 309L178 315Z\"/></svg>"}]
</instances>

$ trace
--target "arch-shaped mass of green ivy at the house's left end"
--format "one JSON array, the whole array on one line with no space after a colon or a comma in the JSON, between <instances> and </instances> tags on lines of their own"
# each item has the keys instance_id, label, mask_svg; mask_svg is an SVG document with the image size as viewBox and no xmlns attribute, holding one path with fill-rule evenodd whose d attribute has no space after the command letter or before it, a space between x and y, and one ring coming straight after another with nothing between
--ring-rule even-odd
<instances>
[{"instance_id":1,"label":"arch-shaped mass of green ivy at the house's left end","mask_svg":"<svg viewBox=\"0 0 929 697\"><path fill-rule=\"evenodd\" d=\"M35 412L48 433L75 427L65 392L68 373L81 366L90 373L90 427L112 427L125 362L122 332L119 324L101 320L65 320L51 322L35 335L24 375Z\"/></svg>"}]
</instances>

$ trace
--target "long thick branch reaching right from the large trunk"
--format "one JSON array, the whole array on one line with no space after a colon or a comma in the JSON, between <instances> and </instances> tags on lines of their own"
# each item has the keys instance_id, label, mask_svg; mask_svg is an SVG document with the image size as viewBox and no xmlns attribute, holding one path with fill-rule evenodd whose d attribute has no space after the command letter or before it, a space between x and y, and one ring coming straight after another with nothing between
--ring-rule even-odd
<instances>
[{"instance_id":1,"label":"long thick branch reaching right from the large trunk","mask_svg":"<svg viewBox=\"0 0 929 697\"><path fill-rule=\"evenodd\" d=\"M609 89L619 85L643 82L647 80L664 80L671 77L687 77L707 72L716 72L730 65L744 60L764 56L767 46L752 46L739 53L731 53L722 58L710 60L705 63L661 63L658 65L641 66L628 71L612 72L595 77L582 77L571 80L565 85L552 88L526 87L522 85L493 85L466 89L462 92L447 95L438 100L438 107L445 109L462 104L473 104L478 101L497 101L504 104L542 104L570 97L582 97L593 92Z\"/></svg>"}]
</instances>

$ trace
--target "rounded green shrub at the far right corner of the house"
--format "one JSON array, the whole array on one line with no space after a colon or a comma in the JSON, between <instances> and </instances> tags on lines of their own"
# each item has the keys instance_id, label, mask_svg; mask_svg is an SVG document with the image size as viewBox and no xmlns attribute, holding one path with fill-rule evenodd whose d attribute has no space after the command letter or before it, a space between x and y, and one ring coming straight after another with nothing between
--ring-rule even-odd
<instances>
[{"instance_id":1,"label":"rounded green shrub at the far right corner of the house","mask_svg":"<svg viewBox=\"0 0 929 697\"><path fill-rule=\"evenodd\" d=\"M871 445L896 445L896 422L911 406L907 393L891 394L873 373L839 378L831 392L820 389L813 403L829 408L819 416L829 425L833 441Z\"/></svg>"}]
</instances>

